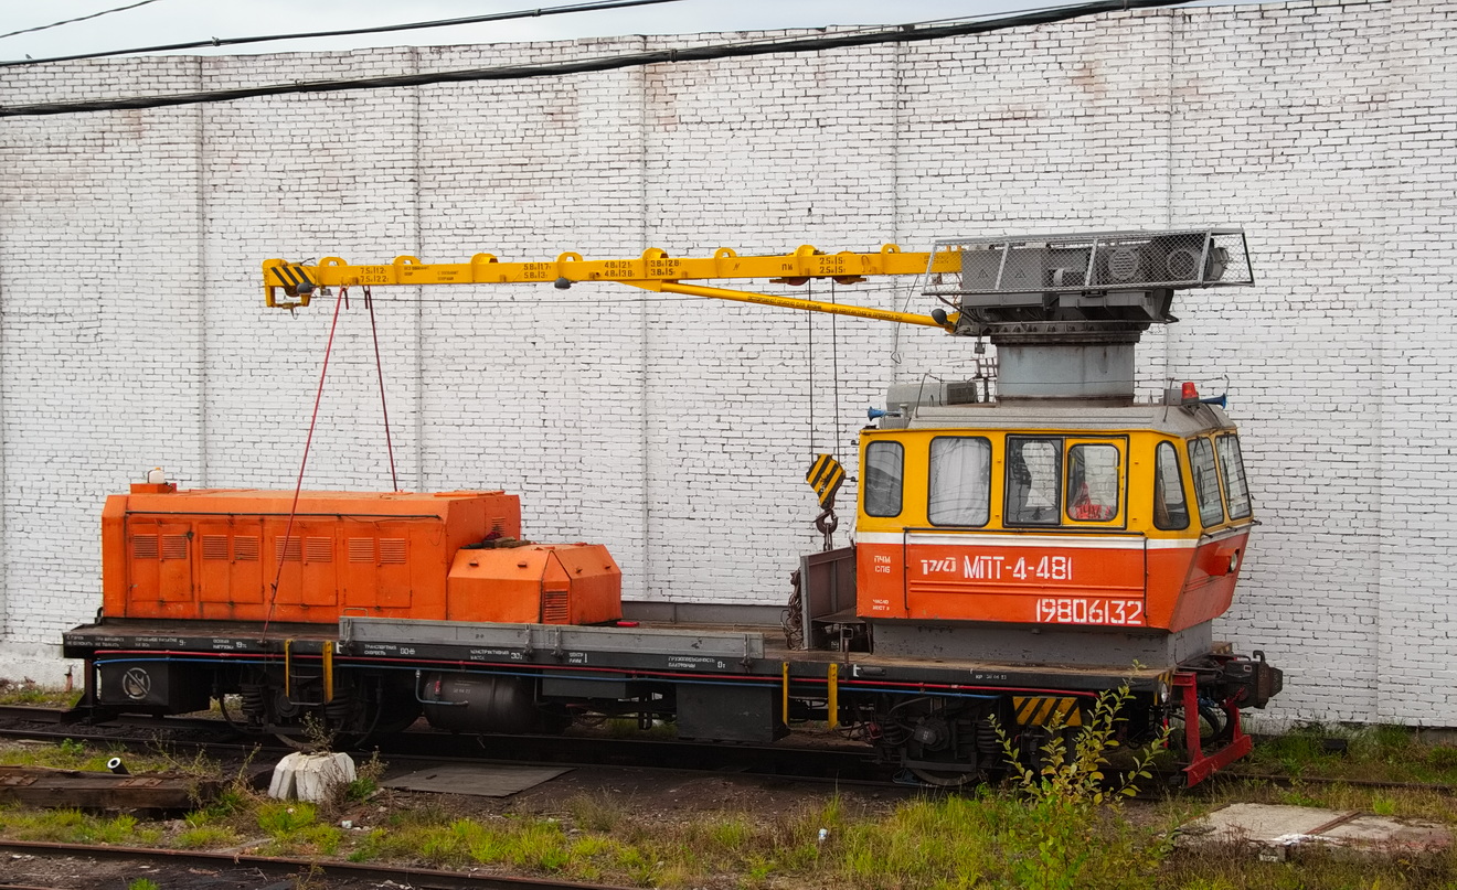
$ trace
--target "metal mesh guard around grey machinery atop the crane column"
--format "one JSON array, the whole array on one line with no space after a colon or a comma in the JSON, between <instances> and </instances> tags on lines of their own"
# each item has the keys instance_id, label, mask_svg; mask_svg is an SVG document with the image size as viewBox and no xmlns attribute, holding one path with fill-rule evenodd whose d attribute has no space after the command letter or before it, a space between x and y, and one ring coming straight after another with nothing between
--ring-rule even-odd
<instances>
[{"instance_id":1,"label":"metal mesh guard around grey machinery atop the crane column","mask_svg":"<svg viewBox=\"0 0 1457 890\"><path fill-rule=\"evenodd\" d=\"M960 264L944 253L959 253ZM935 242L928 294L1013 294L1253 284L1240 229L1030 235Z\"/></svg>"}]
</instances>

